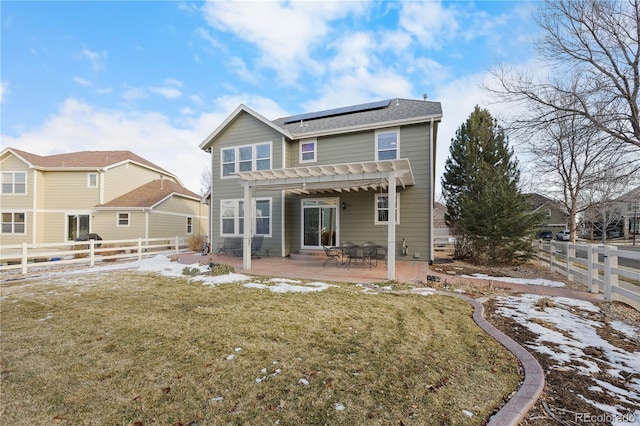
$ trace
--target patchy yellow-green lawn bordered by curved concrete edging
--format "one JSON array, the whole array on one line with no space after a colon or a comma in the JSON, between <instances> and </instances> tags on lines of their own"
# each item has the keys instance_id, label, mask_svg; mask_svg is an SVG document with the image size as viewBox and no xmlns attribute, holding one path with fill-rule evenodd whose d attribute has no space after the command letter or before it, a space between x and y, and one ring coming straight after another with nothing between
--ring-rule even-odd
<instances>
[{"instance_id":1,"label":"patchy yellow-green lawn bordered by curved concrete edging","mask_svg":"<svg viewBox=\"0 0 640 426\"><path fill-rule=\"evenodd\" d=\"M2 424L474 425L519 383L453 297L126 271L1 290Z\"/></svg>"}]
</instances>

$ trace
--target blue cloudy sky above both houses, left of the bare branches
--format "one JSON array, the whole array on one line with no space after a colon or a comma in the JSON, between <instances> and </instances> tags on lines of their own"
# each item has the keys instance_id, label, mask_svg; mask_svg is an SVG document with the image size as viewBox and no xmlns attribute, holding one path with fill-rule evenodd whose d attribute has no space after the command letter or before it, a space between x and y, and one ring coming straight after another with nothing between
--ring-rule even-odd
<instances>
[{"instance_id":1,"label":"blue cloudy sky above both houses, left of the bare branches","mask_svg":"<svg viewBox=\"0 0 640 426\"><path fill-rule=\"evenodd\" d=\"M199 192L202 140L391 98L442 103L437 173L496 63L532 67L535 2L3 1L2 149L128 149Z\"/></svg>"}]
</instances>

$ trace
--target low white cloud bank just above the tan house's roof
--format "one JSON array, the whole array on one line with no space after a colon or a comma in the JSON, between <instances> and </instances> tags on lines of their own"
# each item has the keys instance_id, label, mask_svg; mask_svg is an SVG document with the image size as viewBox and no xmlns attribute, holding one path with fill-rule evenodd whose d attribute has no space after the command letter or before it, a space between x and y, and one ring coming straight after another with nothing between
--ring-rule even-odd
<instances>
[{"instance_id":1,"label":"low white cloud bank just above the tan house's roof","mask_svg":"<svg viewBox=\"0 0 640 426\"><path fill-rule=\"evenodd\" d=\"M175 174L194 192L208 156L198 148L225 114L208 115L212 122L198 128L177 128L152 111L101 109L67 99L57 114L19 136L2 136L3 145L39 155L79 150L130 150Z\"/></svg>"}]
</instances>

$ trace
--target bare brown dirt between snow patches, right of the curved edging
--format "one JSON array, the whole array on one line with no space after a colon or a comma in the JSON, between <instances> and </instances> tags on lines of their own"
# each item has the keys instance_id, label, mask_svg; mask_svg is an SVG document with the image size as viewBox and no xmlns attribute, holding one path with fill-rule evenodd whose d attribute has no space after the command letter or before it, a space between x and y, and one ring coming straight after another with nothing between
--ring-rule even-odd
<instances>
[{"instance_id":1,"label":"bare brown dirt between snow patches, right of the curved edging","mask_svg":"<svg viewBox=\"0 0 640 426\"><path fill-rule=\"evenodd\" d=\"M464 271L465 274L483 273L490 276L508 276L514 278L545 278L553 281L561 281L570 289L584 291L585 287L574 282L567 282L561 274L554 273L548 268L535 263L522 266L502 266L489 267L471 265L463 262L453 262L450 260L442 261L442 265L446 269L455 268L458 271ZM500 294L500 289L493 289L494 294ZM465 293L473 293L472 288L465 288ZM504 291L505 294L513 294L510 291ZM479 295L480 292L477 294ZM470 294L471 295L471 294ZM593 302L600 307L599 317L603 324L608 321L618 320L630 325L640 325L640 312L622 303ZM494 300L489 298L485 303L485 317L489 322L496 326L503 333L514 339L523 347L528 342L535 340L536 335L531 333L525 327L519 325L511 318L506 318L495 313L496 306ZM593 318L592 318L593 319ZM611 327L602 327L599 331L601 337L616 346L629 352L640 352L640 342L629 342L621 339L620 334ZM587 348L589 355L598 357L598 348ZM589 422L581 419L578 413L589 413L593 416L605 414L597 410L593 405L584 402L578 395L588 394L589 398L602 404L616 405L619 401L612 400L604 393L587 392L587 389L593 386L592 378L576 374L574 369L558 368L557 363L552 361L547 355L531 351L531 354L538 360L545 371L545 389L536 405L528 413L527 417L519 426L547 426L551 424L559 425L609 425L611 422L607 419L591 418ZM602 373L606 374L606 373ZM640 377L640 371L632 375L632 377ZM632 377L627 377L630 380ZM603 377L604 380L604 377ZM611 381L611 377L607 378ZM619 386L625 387L623 383ZM638 408L637 406L635 407ZM632 409L633 410L633 409ZM595 421L592 421L595 420ZM636 419L638 421L638 419Z\"/></svg>"}]
</instances>

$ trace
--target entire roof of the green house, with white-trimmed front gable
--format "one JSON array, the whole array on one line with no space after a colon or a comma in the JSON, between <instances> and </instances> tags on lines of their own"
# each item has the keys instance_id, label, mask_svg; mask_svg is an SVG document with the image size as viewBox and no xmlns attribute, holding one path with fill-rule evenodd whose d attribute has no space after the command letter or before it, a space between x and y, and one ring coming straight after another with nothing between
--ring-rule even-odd
<instances>
[{"instance_id":1,"label":"entire roof of the green house, with white-trimmed front gable","mask_svg":"<svg viewBox=\"0 0 640 426\"><path fill-rule=\"evenodd\" d=\"M200 144L208 151L224 129L242 113L250 114L289 139L356 132L381 127L425 123L442 119L440 102L391 99L278 118L269 121L251 108L240 105Z\"/></svg>"}]
</instances>

